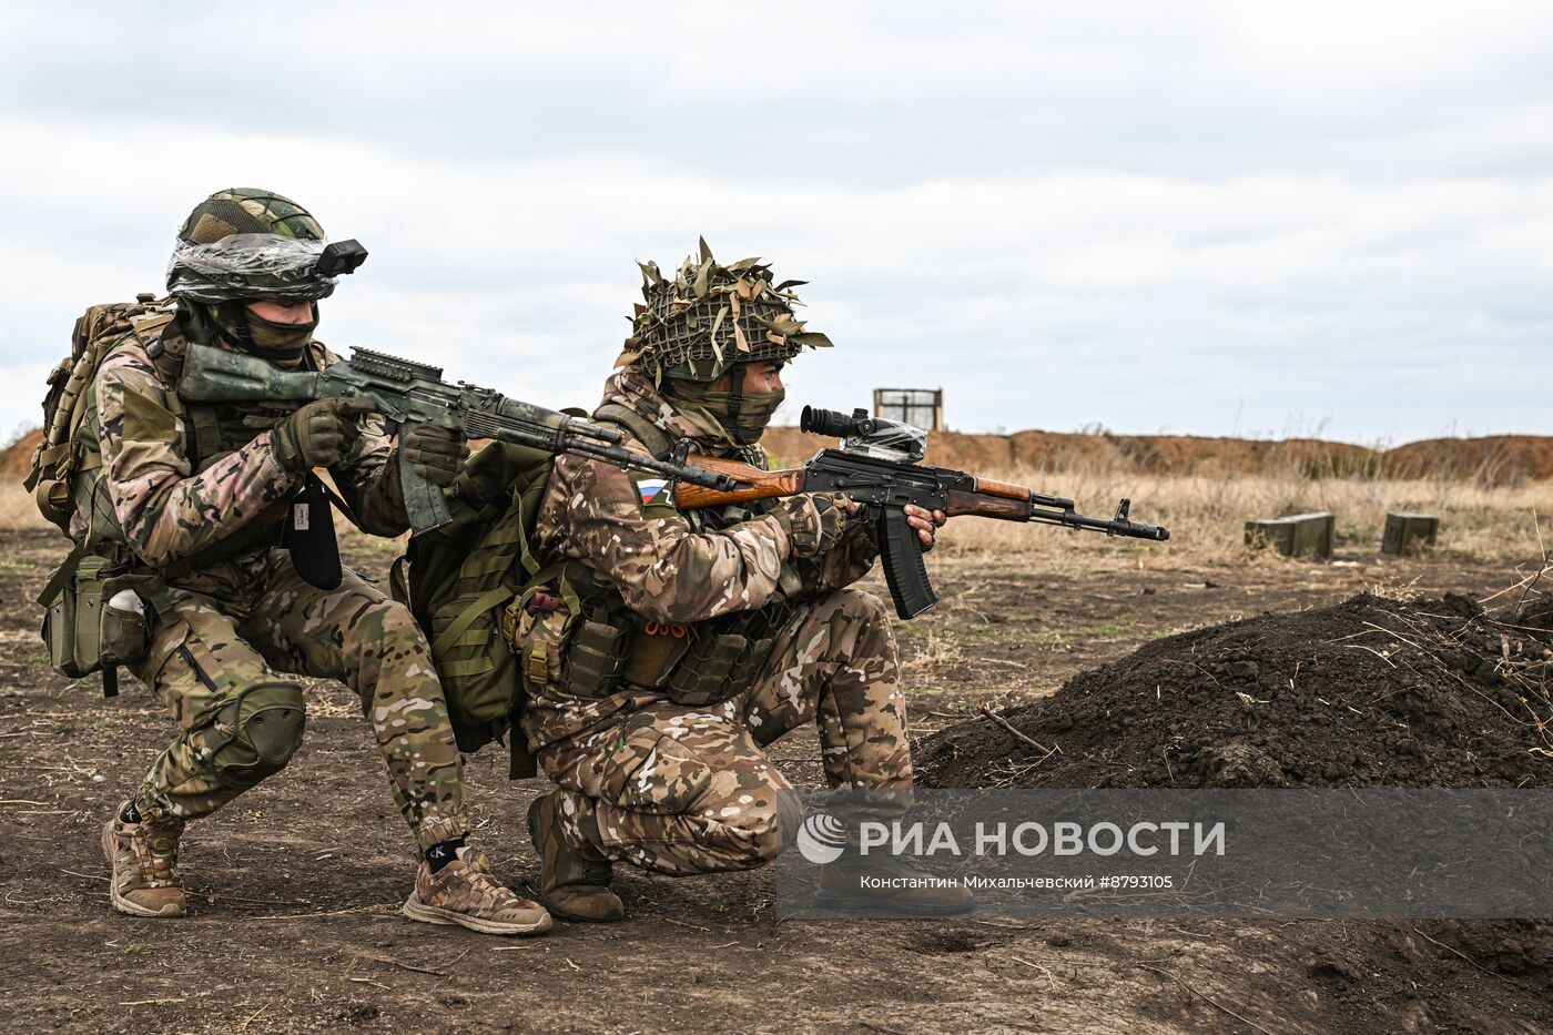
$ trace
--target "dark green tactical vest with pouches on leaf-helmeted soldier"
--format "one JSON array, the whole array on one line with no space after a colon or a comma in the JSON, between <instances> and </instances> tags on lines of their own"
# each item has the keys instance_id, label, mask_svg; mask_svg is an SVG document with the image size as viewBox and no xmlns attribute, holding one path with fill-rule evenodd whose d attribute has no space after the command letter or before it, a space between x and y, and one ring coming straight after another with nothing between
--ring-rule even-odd
<instances>
[{"instance_id":1,"label":"dark green tactical vest with pouches on leaf-helmeted soldier","mask_svg":"<svg viewBox=\"0 0 1553 1035\"><path fill-rule=\"evenodd\" d=\"M593 420L615 424L658 458L674 451L662 427L624 406L601 406ZM752 521L764 510L755 504L679 513L702 533ZM727 701L753 684L792 614L789 595L798 589L784 569L776 595L759 609L665 625L632 611L613 586L581 561L562 563L554 581L573 605L573 629L564 654L572 693L598 698L629 685L660 690L676 704L691 707Z\"/></svg>"}]
</instances>

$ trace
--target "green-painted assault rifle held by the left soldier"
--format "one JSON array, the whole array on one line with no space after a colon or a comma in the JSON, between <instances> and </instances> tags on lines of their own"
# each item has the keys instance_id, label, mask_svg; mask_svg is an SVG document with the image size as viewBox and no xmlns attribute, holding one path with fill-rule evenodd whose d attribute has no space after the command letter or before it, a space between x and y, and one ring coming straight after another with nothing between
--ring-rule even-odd
<instances>
[{"instance_id":1,"label":"green-painted assault rifle held by the left soldier","mask_svg":"<svg viewBox=\"0 0 1553 1035\"><path fill-rule=\"evenodd\" d=\"M612 427L463 381L447 384L441 367L367 348L353 350L348 361L311 371L281 370L253 356L191 342L179 396L191 402L311 402L359 396L371 399L390 430L401 437L418 424L435 424L463 432L466 438L495 438L550 454L579 452L680 483L721 491L735 488L727 474L632 452L620 444L621 434ZM416 476L404 452L399 454L399 479L405 514L416 535L452 521L443 490Z\"/></svg>"}]
</instances>

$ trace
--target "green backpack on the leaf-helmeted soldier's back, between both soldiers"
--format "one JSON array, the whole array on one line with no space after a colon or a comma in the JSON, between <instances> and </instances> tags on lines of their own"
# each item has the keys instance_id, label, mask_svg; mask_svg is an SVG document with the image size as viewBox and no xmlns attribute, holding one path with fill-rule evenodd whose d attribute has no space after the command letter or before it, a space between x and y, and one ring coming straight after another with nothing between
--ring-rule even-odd
<instances>
[{"instance_id":1,"label":"green backpack on the leaf-helmeted soldier's back, between both soldiers","mask_svg":"<svg viewBox=\"0 0 1553 1035\"><path fill-rule=\"evenodd\" d=\"M553 463L542 449L485 446L447 493L452 521L410 539L393 569L394 598L432 643L458 749L474 752L511 732L512 779L536 766L517 729L523 679L502 617L544 575L528 538Z\"/></svg>"}]
</instances>

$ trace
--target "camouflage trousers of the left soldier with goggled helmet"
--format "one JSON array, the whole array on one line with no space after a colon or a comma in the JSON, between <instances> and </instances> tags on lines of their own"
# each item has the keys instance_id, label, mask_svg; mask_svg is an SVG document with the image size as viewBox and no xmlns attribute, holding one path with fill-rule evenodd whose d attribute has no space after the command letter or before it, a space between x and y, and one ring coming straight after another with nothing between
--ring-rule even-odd
<instances>
[{"instance_id":1,"label":"camouflage trousers of the left soldier with goggled helmet","mask_svg":"<svg viewBox=\"0 0 1553 1035\"><path fill-rule=\"evenodd\" d=\"M337 589L309 586L283 550L258 567L241 592L168 591L174 617L158 622L137 674L182 730L135 797L141 814L207 816L283 768L301 740L304 704L300 684L278 673L300 673L360 695L422 849L466 833L447 702L408 609L354 572Z\"/></svg>"}]
</instances>

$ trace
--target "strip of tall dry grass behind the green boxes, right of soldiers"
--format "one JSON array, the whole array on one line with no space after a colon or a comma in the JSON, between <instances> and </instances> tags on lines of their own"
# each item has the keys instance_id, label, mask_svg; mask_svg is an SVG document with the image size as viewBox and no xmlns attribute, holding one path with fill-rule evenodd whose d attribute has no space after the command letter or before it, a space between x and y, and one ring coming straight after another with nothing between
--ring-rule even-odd
<instances>
[{"instance_id":1,"label":"strip of tall dry grass behind the green boxes, right of soldiers","mask_svg":"<svg viewBox=\"0 0 1553 1035\"><path fill-rule=\"evenodd\" d=\"M1079 513L1095 518L1110 518L1117 500L1131 496L1132 518L1166 525L1171 541L1107 541L1061 528L964 519L950 522L943 533L949 553L1061 558L1075 552L1148 550L1183 561L1230 563L1249 555L1246 521L1325 510L1337 516L1340 545L1379 552L1387 511L1424 511L1440 518L1438 550L1489 561L1534 561L1542 556L1534 516L1553 513L1553 480L1494 486L1444 479L1312 479L1298 472L1204 477L1096 469L1053 476L1025 469L981 474L1068 496L1078 502Z\"/></svg>"}]
</instances>

